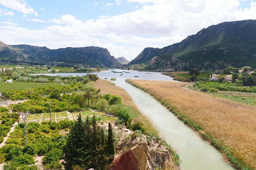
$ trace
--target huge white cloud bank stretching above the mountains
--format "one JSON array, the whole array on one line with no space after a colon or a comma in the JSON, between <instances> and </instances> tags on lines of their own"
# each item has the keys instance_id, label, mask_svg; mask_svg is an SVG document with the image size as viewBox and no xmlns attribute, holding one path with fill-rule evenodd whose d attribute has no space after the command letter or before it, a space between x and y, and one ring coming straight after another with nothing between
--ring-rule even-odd
<instances>
[{"instance_id":1,"label":"huge white cloud bank stretching above the mountains","mask_svg":"<svg viewBox=\"0 0 256 170\"><path fill-rule=\"evenodd\" d=\"M66 14L50 20L55 25L27 29L1 22L0 37L7 44L33 42L48 48L99 46L111 55L136 57L145 47L171 45L202 28L224 21L256 19L256 4L240 9L241 0L129 0L143 4L134 12L99 15L82 21ZM153 5L145 3L152 2ZM27 42L17 42L27 40Z\"/></svg>"}]
</instances>

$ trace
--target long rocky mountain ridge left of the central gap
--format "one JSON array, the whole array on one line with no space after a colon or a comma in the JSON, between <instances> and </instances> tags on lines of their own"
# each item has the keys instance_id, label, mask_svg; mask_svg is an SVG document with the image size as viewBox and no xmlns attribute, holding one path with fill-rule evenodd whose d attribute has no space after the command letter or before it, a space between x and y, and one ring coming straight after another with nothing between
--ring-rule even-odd
<instances>
[{"instance_id":1,"label":"long rocky mountain ridge left of the central gap","mask_svg":"<svg viewBox=\"0 0 256 170\"><path fill-rule=\"evenodd\" d=\"M31 45L6 45L0 41L0 61L13 63L87 64L92 67L122 67L106 48L79 47L49 49Z\"/></svg>"}]
</instances>

